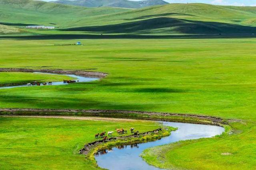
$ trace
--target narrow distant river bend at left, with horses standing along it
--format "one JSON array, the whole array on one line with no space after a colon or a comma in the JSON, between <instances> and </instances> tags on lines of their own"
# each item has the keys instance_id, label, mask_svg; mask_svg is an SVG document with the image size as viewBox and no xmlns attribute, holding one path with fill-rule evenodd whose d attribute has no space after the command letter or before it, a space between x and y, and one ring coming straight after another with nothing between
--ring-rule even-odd
<instances>
[{"instance_id":1,"label":"narrow distant river bend at left, with horses standing along it","mask_svg":"<svg viewBox=\"0 0 256 170\"><path fill-rule=\"evenodd\" d=\"M40 73L40 74L54 74L54 73L44 73L44 72L33 72L33 73ZM60 74L54 74L54 75L60 75ZM98 80L99 78L92 78L92 77L83 77L83 76L77 76L75 74L61 74L61 75L64 75L64 76L70 76L72 78L74 78L73 80L78 80L79 82L91 82L91 81L94 81L94 80ZM52 82L52 85L53 86L56 86L56 85L66 85L68 83L64 83L64 82ZM17 85L17 86L2 86L0 87L0 89L4 89L4 88L16 88L16 87L25 87L27 86L26 84L24 85Z\"/></svg>"}]
</instances>

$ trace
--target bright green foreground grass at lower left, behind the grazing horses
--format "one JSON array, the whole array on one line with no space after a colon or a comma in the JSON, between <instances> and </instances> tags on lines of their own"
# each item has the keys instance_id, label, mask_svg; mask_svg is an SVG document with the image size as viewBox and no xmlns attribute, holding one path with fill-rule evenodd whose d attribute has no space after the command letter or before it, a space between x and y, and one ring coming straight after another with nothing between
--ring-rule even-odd
<instances>
[{"instance_id":1,"label":"bright green foreground grass at lower left, behind the grazing horses","mask_svg":"<svg viewBox=\"0 0 256 170\"><path fill-rule=\"evenodd\" d=\"M95 140L94 134L120 127L146 132L161 126L149 121L27 117L0 117L0 122L1 169L96 169L94 161L78 154L85 143Z\"/></svg>"}]
</instances>

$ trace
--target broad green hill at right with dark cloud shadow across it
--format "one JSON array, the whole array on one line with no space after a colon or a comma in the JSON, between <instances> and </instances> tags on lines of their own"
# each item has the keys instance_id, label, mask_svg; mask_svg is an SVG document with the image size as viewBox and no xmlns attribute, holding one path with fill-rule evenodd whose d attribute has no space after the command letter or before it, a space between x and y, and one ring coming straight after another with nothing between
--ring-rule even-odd
<instances>
[{"instance_id":1,"label":"broad green hill at right with dark cloud shadow across it","mask_svg":"<svg viewBox=\"0 0 256 170\"><path fill-rule=\"evenodd\" d=\"M209 4L168 4L78 21L65 31L139 34L252 34L256 33L255 7ZM252 12L251 12L252 11ZM87 24L85 24L87 22Z\"/></svg>"}]
</instances>

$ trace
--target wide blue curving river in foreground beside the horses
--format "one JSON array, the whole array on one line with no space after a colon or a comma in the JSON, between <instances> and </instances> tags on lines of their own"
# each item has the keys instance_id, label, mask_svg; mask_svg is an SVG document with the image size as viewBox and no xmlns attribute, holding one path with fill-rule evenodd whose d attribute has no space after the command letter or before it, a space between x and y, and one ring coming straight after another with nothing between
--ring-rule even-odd
<instances>
[{"instance_id":1,"label":"wide blue curving river in foreground beside the horses","mask_svg":"<svg viewBox=\"0 0 256 170\"><path fill-rule=\"evenodd\" d=\"M162 123L165 126L178 127L178 130L172 131L170 136L157 141L101 150L95 155L98 166L109 170L160 170L160 168L148 165L140 157L143 150L176 141L214 137L224 132L223 127L214 125L176 122Z\"/></svg>"}]
</instances>

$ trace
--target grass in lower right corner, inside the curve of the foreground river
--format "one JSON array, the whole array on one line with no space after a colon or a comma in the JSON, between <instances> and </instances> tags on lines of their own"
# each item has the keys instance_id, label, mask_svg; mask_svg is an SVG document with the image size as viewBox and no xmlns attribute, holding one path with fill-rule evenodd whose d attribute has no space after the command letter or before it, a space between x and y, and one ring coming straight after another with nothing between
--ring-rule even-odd
<instances>
[{"instance_id":1,"label":"grass in lower right corner, inside the curve of the foreground river","mask_svg":"<svg viewBox=\"0 0 256 170\"><path fill-rule=\"evenodd\" d=\"M148 164L164 169L255 169L254 123L231 123L233 135L180 141L144 150ZM226 154L225 154L226 153ZM214 160L214 161L213 161Z\"/></svg>"}]
</instances>

